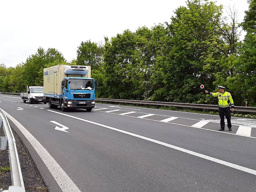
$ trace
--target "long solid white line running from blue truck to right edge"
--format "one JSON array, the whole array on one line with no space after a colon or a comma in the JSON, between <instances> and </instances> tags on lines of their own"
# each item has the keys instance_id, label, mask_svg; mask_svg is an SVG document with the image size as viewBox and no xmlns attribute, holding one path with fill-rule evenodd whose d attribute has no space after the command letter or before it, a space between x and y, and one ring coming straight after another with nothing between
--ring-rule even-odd
<instances>
[{"instance_id":1,"label":"long solid white line running from blue truck to right edge","mask_svg":"<svg viewBox=\"0 0 256 192\"><path fill-rule=\"evenodd\" d=\"M96 122L93 122L93 121L85 120L85 119L82 119L82 118L79 118L79 117L75 117L75 116L71 116L71 115L59 113L59 112L57 112L57 111L52 111L52 110L48 110L48 109L47 109L47 111L51 111L51 112L53 112L53 113L57 113L57 114L60 114L60 115L64 115L64 116L68 116L68 117L71 117L71 118L74 118L74 119L78 119L78 120L81 120L81 121L85 121L85 122L87 122L87 123L99 125L99 126L101 126L101 127L105 127L105 128L108 128L108 129L117 131L117 132L121 132L121 133L124 133L124 134L127 134L127 135L131 135L131 136L134 136L134 137L143 139L143 140L148 140L148 141L151 141L151 142L153 142L153 143L157 143L157 144L163 145L163 146L165 146L165 147L169 147L169 148L172 148L172 149L176 149L176 150L178 150L178 151L181 151L181 152L184 152L184 153L188 153L188 154L193 155L193 156L201 157L201 158L203 158L203 159L207 159L207 160L210 160L210 161L215 162L215 163L219 163L219 164L222 164L222 165L226 165L226 166L228 166L228 167L232 167L232 168L234 168L234 169L237 169L237 170L240 170L240 171L244 171L244 172L247 172L247 173L251 173L251 174L253 174L253 175L256 175L256 170L253 170L253 169L250 169L250 168L247 168L247 167L243 167L243 166L240 166L240 165L237 165L237 164L229 163L229 162L227 162L227 161L223 161L223 160L220 160L220 159L211 157L211 156L203 155L203 154L201 154L201 153L197 153L197 152L194 152L194 151L190 151L190 150L188 150L188 149L180 148L180 147L177 147L177 146L168 144L168 143L164 143L164 142L162 142L162 141L154 140L154 139L151 139L151 138L148 138L148 137L144 137L144 136L141 136L141 135L137 135L137 134L134 134L134 133L131 133L131 132L127 132L127 131L124 131L124 130L116 129L116 128L114 128L114 127L110 127L110 126L103 125L103 124L99 124L99 123L96 123Z\"/></svg>"}]
</instances>

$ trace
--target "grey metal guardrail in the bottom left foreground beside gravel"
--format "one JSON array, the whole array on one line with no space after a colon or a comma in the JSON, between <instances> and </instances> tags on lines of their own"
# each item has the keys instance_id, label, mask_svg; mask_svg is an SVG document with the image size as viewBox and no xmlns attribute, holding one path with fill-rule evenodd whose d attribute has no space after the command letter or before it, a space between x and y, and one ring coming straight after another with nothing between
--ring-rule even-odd
<instances>
[{"instance_id":1,"label":"grey metal guardrail in the bottom left foreground beside gravel","mask_svg":"<svg viewBox=\"0 0 256 192\"><path fill-rule=\"evenodd\" d=\"M16 148L16 142L12 134L10 124L0 108L0 128L4 129L4 135L8 138L9 146L9 161L12 177L12 186L9 186L8 190L3 192L25 192L25 187L23 183L23 178L20 169L20 161L18 157L18 152ZM2 140L2 139L1 139ZM2 191L2 189L0 189Z\"/></svg>"}]
</instances>

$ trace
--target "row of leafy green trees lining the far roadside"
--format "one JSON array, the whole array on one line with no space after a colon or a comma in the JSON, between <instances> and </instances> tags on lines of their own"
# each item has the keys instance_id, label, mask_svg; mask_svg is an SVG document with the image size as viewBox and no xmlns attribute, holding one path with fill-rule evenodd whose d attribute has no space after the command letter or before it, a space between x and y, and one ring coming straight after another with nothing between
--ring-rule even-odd
<instances>
[{"instance_id":1,"label":"row of leafy green trees lining the far roadside","mask_svg":"<svg viewBox=\"0 0 256 192\"><path fill-rule=\"evenodd\" d=\"M71 62L54 48L40 47L15 68L0 65L0 91L43 86L46 67L90 65L101 98L216 104L216 98L202 93L204 84L212 92L225 86L235 105L256 106L256 0L248 3L238 23L234 7L224 17L222 5L188 0L163 24L105 37L104 45L82 42ZM243 41L240 27L246 31Z\"/></svg>"}]
</instances>

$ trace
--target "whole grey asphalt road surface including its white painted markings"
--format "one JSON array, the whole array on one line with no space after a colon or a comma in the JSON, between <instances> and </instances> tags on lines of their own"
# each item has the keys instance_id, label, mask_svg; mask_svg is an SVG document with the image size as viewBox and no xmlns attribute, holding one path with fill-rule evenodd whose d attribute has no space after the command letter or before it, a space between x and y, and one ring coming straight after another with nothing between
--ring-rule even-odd
<instances>
[{"instance_id":1,"label":"whole grey asphalt road surface including its white painted markings","mask_svg":"<svg viewBox=\"0 0 256 192\"><path fill-rule=\"evenodd\" d=\"M256 191L254 119L232 117L232 131L219 132L214 115L106 104L62 112L17 96L0 101L46 149L38 154L9 120L50 192Z\"/></svg>"}]
</instances>

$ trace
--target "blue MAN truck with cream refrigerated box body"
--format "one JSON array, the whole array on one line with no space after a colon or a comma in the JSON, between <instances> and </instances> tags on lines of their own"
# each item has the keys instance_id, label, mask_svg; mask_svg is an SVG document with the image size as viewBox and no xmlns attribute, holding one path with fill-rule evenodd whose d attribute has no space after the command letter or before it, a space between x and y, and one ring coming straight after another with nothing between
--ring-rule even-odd
<instances>
[{"instance_id":1,"label":"blue MAN truck with cream refrigerated box body","mask_svg":"<svg viewBox=\"0 0 256 192\"><path fill-rule=\"evenodd\" d=\"M62 111L95 107L95 83L91 66L56 65L44 69L44 97L49 108L60 106Z\"/></svg>"}]
</instances>

